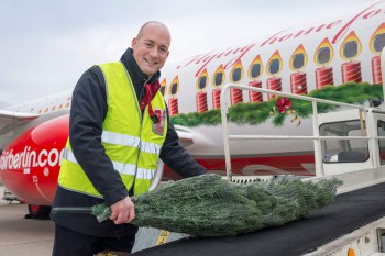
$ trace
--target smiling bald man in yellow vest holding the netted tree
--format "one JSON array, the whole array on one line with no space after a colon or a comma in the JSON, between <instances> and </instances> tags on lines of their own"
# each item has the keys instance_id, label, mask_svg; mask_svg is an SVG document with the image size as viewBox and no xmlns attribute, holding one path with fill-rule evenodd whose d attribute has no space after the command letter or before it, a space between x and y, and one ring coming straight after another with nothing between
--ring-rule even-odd
<instances>
[{"instance_id":1,"label":"smiling bald man in yellow vest holding the netted tree","mask_svg":"<svg viewBox=\"0 0 385 256\"><path fill-rule=\"evenodd\" d=\"M182 177L207 170L180 145L160 89L170 45L168 29L145 23L120 62L88 69L73 93L69 137L53 207L107 203L111 218L51 213L54 256L131 252L138 227L130 196L148 190L157 159Z\"/></svg>"}]
</instances>

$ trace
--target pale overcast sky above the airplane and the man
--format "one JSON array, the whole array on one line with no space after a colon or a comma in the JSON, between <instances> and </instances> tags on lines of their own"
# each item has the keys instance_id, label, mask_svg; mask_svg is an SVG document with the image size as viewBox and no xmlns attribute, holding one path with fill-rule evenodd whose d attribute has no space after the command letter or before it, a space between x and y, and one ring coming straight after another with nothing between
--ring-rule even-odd
<instances>
[{"instance_id":1,"label":"pale overcast sky above the airplane and the man","mask_svg":"<svg viewBox=\"0 0 385 256\"><path fill-rule=\"evenodd\" d=\"M74 88L118 60L146 21L172 32L168 60L338 13L364 0L0 0L0 108Z\"/></svg>"}]
</instances>

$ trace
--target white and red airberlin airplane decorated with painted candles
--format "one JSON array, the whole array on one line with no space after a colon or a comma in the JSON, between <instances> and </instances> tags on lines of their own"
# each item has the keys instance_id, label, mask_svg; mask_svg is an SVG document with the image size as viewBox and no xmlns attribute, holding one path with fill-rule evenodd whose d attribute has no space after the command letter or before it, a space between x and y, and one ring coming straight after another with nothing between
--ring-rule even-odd
<instances>
[{"instance_id":1,"label":"white and red airberlin airplane decorated with painted candles","mask_svg":"<svg viewBox=\"0 0 385 256\"><path fill-rule=\"evenodd\" d=\"M180 144L210 172L226 175L220 94L229 82L305 96L329 88L327 99L332 89L350 88L345 85L377 88L383 84L384 18L385 1L371 2L328 20L167 63L161 91ZM0 182L29 204L32 218L46 214L53 202L72 91L0 110ZM289 99L233 88L227 102L230 132L311 134L311 116ZM242 141L230 146L234 174L315 175L311 142ZM177 178L165 167L164 180Z\"/></svg>"}]
</instances>

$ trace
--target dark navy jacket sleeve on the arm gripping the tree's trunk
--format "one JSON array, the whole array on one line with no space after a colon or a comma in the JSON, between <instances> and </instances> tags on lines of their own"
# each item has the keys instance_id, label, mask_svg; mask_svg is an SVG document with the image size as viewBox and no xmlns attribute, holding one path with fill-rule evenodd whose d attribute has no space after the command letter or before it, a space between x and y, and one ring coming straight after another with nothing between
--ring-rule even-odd
<instances>
[{"instance_id":1,"label":"dark navy jacket sleeve on the arm gripping the tree's trunk","mask_svg":"<svg viewBox=\"0 0 385 256\"><path fill-rule=\"evenodd\" d=\"M81 76L73 93L69 143L78 164L111 205L129 191L101 145L107 110L106 82L100 68L95 66Z\"/></svg>"}]
</instances>

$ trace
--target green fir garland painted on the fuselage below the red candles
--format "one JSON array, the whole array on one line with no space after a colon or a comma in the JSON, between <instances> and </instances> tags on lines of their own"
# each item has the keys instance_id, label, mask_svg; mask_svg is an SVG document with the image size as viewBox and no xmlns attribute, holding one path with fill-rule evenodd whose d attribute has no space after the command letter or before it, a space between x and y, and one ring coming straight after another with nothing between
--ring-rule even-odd
<instances>
[{"instance_id":1,"label":"green fir garland painted on the fuselage below the red candles","mask_svg":"<svg viewBox=\"0 0 385 256\"><path fill-rule=\"evenodd\" d=\"M341 86L326 86L321 89L312 90L310 93L308 93L308 96L343 103L362 104L371 99L383 99L383 88L381 85L370 85L367 82L348 82ZM280 126L288 116L289 110L296 111L299 118L308 118L312 113L311 102L297 99L289 100L292 102L292 107L289 109L287 109L284 113L276 112L273 115L271 114L272 111L274 111L274 108L277 108L276 99L271 99L270 101L265 102L249 102L231 105L228 113L229 122L257 125L265 123L268 119L273 118L273 124ZM319 113L327 113L337 109L334 105L323 103L318 103L317 108ZM209 110L204 113L180 113L172 116L170 121L173 124L188 127L199 125L218 125L221 123L221 114L220 109Z\"/></svg>"}]
</instances>

